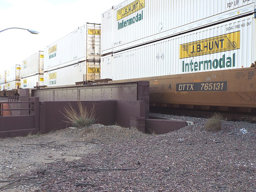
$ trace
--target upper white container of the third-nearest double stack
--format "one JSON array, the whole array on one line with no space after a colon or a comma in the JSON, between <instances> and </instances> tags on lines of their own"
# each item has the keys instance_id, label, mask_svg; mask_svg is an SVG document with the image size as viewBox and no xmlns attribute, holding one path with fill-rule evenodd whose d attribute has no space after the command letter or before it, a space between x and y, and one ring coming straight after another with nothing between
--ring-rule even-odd
<instances>
[{"instance_id":1,"label":"upper white container of the third-nearest double stack","mask_svg":"<svg viewBox=\"0 0 256 192\"><path fill-rule=\"evenodd\" d=\"M39 51L22 61L20 77L44 73L44 52Z\"/></svg>"}]
</instances>

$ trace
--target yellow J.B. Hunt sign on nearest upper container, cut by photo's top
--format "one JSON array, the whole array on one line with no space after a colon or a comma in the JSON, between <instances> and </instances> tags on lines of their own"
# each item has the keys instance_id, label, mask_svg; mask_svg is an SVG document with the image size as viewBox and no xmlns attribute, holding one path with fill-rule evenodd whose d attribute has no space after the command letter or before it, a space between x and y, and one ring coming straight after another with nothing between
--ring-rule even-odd
<instances>
[{"instance_id":1,"label":"yellow J.B. Hunt sign on nearest upper container, cut by photo's top","mask_svg":"<svg viewBox=\"0 0 256 192\"><path fill-rule=\"evenodd\" d=\"M117 18L116 20L123 19L124 17L131 15L132 13L139 11L140 9L145 7L145 0L136 0L133 1L131 4L125 6L122 9L117 11Z\"/></svg>"}]
</instances>

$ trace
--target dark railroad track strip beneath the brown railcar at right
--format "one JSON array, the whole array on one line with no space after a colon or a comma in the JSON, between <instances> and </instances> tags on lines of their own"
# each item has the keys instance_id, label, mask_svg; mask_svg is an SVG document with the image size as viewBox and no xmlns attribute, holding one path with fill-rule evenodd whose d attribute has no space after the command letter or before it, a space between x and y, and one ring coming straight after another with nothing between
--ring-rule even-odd
<instances>
[{"instance_id":1,"label":"dark railroad track strip beneath the brown railcar at right","mask_svg":"<svg viewBox=\"0 0 256 192\"><path fill-rule=\"evenodd\" d=\"M215 111L215 110L195 110L195 109L181 109L181 108L166 108L153 107L149 108L150 113L172 114L178 116L193 116L193 117L211 117L214 113L220 113L224 118L231 121L248 121L256 122L256 113L245 112L230 112L230 111Z\"/></svg>"}]
</instances>

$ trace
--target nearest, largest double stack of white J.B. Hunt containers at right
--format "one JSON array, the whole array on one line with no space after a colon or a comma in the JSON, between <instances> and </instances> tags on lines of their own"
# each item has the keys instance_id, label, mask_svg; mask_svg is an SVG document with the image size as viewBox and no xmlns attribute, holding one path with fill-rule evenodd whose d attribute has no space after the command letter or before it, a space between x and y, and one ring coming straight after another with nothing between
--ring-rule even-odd
<instances>
[{"instance_id":1,"label":"nearest, largest double stack of white J.B. Hunt containers at right","mask_svg":"<svg viewBox=\"0 0 256 192\"><path fill-rule=\"evenodd\" d=\"M101 78L250 67L254 9L255 0L126 0L102 14Z\"/></svg>"}]
</instances>

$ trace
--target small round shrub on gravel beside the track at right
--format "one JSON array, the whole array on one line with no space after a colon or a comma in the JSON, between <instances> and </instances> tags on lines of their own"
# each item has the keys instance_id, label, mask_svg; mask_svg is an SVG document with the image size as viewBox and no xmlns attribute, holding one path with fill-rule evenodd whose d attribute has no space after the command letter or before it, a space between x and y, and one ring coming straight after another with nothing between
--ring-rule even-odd
<instances>
[{"instance_id":1,"label":"small round shrub on gravel beside the track at right","mask_svg":"<svg viewBox=\"0 0 256 192\"><path fill-rule=\"evenodd\" d=\"M220 113L214 113L205 124L205 128L208 131L220 131L222 127L223 116Z\"/></svg>"}]
</instances>

